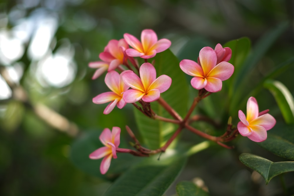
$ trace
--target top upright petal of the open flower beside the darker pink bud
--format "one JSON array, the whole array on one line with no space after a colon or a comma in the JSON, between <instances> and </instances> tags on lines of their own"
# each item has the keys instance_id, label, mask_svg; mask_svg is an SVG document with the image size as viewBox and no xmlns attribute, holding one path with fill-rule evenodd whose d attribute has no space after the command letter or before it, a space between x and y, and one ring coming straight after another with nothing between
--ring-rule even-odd
<instances>
[{"instance_id":1,"label":"top upright petal of the open flower beside the darker pink bud","mask_svg":"<svg viewBox=\"0 0 294 196\"><path fill-rule=\"evenodd\" d=\"M204 47L199 52L199 60L204 74L207 75L216 66L216 52L211 47Z\"/></svg>"}]
</instances>

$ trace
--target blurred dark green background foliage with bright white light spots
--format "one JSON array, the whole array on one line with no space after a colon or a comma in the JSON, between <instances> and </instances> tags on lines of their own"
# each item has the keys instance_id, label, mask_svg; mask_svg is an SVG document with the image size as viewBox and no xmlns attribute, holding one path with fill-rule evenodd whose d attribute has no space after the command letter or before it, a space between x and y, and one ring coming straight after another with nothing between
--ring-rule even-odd
<instances>
[{"instance_id":1,"label":"blurred dark green background foliage with bright white light spots","mask_svg":"<svg viewBox=\"0 0 294 196\"><path fill-rule=\"evenodd\" d=\"M269 29L288 21L289 28L252 72L258 78L293 57L293 15L292 0L0 0L0 195L101 195L110 185L69 160L71 143L86 131L119 126L125 135L125 125L136 129L132 105L104 115L106 105L92 103L108 88L104 76L91 80L88 63L99 60L109 40L123 33L139 37L150 28L172 41L179 60L196 60L204 46L244 36L254 46ZM292 94L293 71L291 66L276 78ZM283 120L267 90L257 100ZM237 114L233 119L238 121ZM183 139L199 140L191 133ZM179 179L204 182L211 195L280 194L278 177L266 186L238 155L281 158L247 138L234 145L192 156ZM284 177L293 185L293 173ZM166 192L173 194L175 186Z\"/></svg>"}]
</instances>

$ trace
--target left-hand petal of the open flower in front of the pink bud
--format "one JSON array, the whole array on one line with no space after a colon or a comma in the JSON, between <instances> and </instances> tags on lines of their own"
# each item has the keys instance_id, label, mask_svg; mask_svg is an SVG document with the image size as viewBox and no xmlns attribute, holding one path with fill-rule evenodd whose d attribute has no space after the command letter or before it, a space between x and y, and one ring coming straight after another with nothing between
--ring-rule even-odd
<instances>
[{"instance_id":1,"label":"left-hand petal of the open flower in front of the pink bud","mask_svg":"<svg viewBox=\"0 0 294 196\"><path fill-rule=\"evenodd\" d=\"M204 77L202 67L195 61L184 59L180 62L180 68L184 73L190 76Z\"/></svg>"}]
</instances>

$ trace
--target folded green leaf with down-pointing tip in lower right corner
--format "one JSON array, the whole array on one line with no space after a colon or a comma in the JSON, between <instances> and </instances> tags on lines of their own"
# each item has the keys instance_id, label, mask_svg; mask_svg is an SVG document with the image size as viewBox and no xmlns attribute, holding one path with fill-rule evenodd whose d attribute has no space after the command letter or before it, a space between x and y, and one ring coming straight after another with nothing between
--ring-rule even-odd
<instances>
[{"instance_id":1,"label":"folded green leaf with down-pointing tip in lower right corner","mask_svg":"<svg viewBox=\"0 0 294 196\"><path fill-rule=\"evenodd\" d=\"M266 184L279 174L294 171L294 161L272 162L263 157L249 153L241 154L239 160L247 167L260 173L265 179Z\"/></svg>"}]
</instances>

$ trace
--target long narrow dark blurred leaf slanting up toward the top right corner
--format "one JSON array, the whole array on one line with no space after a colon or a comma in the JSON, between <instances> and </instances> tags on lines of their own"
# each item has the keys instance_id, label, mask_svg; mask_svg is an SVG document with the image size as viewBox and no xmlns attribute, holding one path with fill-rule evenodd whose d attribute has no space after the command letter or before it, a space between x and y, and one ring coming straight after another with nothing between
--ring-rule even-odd
<instances>
[{"instance_id":1,"label":"long narrow dark blurred leaf slanting up toward the top right corner","mask_svg":"<svg viewBox=\"0 0 294 196\"><path fill-rule=\"evenodd\" d=\"M232 98L230 101L230 115L237 112L240 99L250 92L250 88L246 86L248 80L252 79L248 77L249 73L288 26L289 23L284 22L261 37L253 47L253 51L247 56L243 64L240 65L238 72L233 74L233 86L230 88L230 97ZM238 89L242 89L242 91L238 91Z\"/></svg>"}]
</instances>

